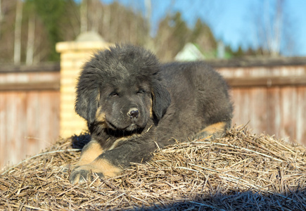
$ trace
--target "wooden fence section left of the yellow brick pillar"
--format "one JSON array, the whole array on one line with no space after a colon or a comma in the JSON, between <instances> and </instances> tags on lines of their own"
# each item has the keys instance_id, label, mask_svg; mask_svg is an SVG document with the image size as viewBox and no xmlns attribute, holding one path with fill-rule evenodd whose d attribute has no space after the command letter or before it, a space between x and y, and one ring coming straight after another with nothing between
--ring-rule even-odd
<instances>
[{"instance_id":1,"label":"wooden fence section left of the yellow brick pillar","mask_svg":"<svg viewBox=\"0 0 306 211\"><path fill-rule=\"evenodd\" d=\"M59 136L60 65L0 68L0 169Z\"/></svg>"}]
</instances>

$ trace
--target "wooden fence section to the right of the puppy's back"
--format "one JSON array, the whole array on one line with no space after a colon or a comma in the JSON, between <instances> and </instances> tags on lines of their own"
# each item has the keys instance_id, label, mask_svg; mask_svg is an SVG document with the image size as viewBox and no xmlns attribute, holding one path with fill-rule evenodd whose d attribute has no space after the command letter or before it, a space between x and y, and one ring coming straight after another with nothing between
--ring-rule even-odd
<instances>
[{"instance_id":1,"label":"wooden fence section to the right of the puppy's back","mask_svg":"<svg viewBox=\"0 0 306 211\"><path fill-rule=\"evenodd\" d=\"M231 86L236 124L306 145L306 58L211 61Z\"/></svg>"}]
</instances>

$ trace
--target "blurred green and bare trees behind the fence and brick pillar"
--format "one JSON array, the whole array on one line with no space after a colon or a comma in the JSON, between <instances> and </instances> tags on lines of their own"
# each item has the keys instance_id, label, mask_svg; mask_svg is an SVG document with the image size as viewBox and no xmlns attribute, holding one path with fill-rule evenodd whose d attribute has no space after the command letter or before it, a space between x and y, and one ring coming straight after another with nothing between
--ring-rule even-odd
<instances>
[{"instance_id":1,"label":"blurred green and bare trees behind the fence and brick pillar","mask_svg":"<svg viewBox=\"0 0 306 211\"><path fill-rule=\"evenodd\" d=\"M85 31L95 31L110 43L129 42L152 49L162 60L172 60L186 43L198 46L204 55L217 55L217 39L198 19L187 25L181 13L168 13L152 37L148 18L114 1L100 0L0 0L0 63L59 61L58 41L72 41ZM229 57L264 54L263 49L225 47Z\"/></svg>"}]
</instances>

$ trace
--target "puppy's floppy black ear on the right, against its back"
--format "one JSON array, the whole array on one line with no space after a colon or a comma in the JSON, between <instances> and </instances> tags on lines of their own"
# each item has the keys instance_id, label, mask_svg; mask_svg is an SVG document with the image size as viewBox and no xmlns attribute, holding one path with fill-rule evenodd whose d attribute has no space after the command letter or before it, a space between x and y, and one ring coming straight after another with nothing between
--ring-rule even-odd
<instances>
[{"instance_id":1,"label":"puppy's floppy black ear on the right, against its back","mask_svg":"<svg viewBox=\"0 0 306 211\"><path fill-rule=\"evenodd\" d=\"M158 122L170 106L171 98L167 89L160 82L153 85L152 97L152 110Z\"/></svg>"}]
</instances>

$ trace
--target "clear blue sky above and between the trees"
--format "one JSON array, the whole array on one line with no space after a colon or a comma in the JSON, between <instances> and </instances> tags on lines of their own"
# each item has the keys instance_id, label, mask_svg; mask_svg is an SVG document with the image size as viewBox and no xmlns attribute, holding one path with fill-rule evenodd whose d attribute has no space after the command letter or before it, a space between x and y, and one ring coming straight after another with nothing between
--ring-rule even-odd
<instances>
[{"instance_id":1,"label":"clear blue sky above and between the trees","mask_svg":"<svg viewBox=\"0 0 306 211\"><path fill-rule=\"evenodd\" d=\"M113 0L101 0L108 4ZM146 13L147 0L117 0L125 6ZM152 33L167 13L180 11L184 20L192 27L198 18L210 26L217 39L237 49L256 46L256 15L263 15L260 5L274 7L276 0L151 0ZM283 52L288 56L306 56L306 0L284 1L283 17L288 39L293 39L295 48ZM287 27L288 26L288 27ZM284 25L285 27L285 25ZM286 39L286 38L285 38Z\"/></svg>"}]
</instances>

